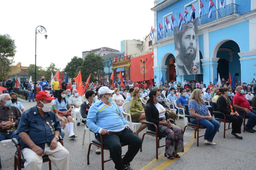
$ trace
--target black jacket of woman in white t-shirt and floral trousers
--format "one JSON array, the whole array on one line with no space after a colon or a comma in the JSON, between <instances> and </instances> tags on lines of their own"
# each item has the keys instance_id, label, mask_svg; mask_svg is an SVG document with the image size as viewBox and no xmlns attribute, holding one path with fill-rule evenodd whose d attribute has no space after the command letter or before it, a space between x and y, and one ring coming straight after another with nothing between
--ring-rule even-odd
<instances>
[{"instance_id":1,"label":"black jacket of woman in white t-shirt and floral trousers","mask_svg":"<svg viewBox=\"0 0 256 170\"><path fill-rule=\"evenodd\" d=\"M163 103L162 102L158 102L158 103L160 103L161 105L163 105ZM163 105L164 106L164 105ZM145 115L146 115L146 120L148 121L148 122L153 122L153 123L155 123L156 124L156 126L157 126L157 128L159 128L158 127L158 125L159 125L159 112L158 112L158 110L157 110L157 108L156 108L156 106L154 105L154 103L153 102L151 102L151 103L148 103L147 105L146 105L146 107L145 107ZM169 119L169 116L168 116L168 114L165 112L165 118L166 118L166 120L167 119ZM149 130L152 130L152 131L156 131L156 128L155 128L155 126L153 126L153 125L148 125L148 129ZM160 139L161 139L161 137L162 137L162 133L158 130L158 137L160 137Z\"/></svg>"}]
</instances>

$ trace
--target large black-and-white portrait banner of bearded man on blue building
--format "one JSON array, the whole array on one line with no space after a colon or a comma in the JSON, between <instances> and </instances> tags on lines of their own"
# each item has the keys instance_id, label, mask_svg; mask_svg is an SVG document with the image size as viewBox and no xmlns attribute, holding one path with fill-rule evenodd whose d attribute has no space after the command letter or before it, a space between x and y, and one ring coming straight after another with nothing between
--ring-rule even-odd
<instances>
[{"instance_id":1,"label":"large black-and-white portrait banner of bearded man on blue building","mask_svg":"<svg viewBox=\"0 0 256 170\"><path fill-rule=\"evenodd\" d=\"M176 75L200 74L200 56L197 34L197 19L175 27L175 69Z\"/></svg>"}]
</instances>

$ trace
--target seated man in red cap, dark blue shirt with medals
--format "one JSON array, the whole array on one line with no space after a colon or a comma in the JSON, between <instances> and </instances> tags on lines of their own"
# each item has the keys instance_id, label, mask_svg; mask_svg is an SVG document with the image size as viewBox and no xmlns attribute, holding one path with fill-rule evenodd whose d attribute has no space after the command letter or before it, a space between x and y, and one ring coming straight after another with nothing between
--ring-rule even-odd
<instances>
[{"instance_id":1,"label":"seated man in red cap, dark blue shirt with medals","mask_svg":"<svg viewBox=\"0 0 256 170\"><path fill-rule=\"evenodd\" d=\"M52 97L48 92L36 94L36 106L26 110L17 134L21 138L21 152L26 159L25 169L40 170L43 155L48 155L58 170L68 170L69 152L58 142L60 122L51 111Z\"/></svg>"}]
</instances>

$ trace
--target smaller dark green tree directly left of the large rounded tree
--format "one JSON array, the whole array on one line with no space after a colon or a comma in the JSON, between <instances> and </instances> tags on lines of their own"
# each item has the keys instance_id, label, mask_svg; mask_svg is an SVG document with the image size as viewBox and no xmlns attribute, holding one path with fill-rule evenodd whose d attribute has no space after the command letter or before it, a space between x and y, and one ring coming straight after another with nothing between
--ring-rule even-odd
<instances>
[{"instance_id":1,"label":"smaller dark green tree directly left of the large rounded tree","mask_svg":"<svg viewBox=\"0 0 256 170\"><path fill-rule=\"evenodd\" d=\"M76 69L83 64L83 59L74 56L71 61L66 65L65 72L68 73L68 77L74 78L76 76Z\"/></svg>"}]
</instances>

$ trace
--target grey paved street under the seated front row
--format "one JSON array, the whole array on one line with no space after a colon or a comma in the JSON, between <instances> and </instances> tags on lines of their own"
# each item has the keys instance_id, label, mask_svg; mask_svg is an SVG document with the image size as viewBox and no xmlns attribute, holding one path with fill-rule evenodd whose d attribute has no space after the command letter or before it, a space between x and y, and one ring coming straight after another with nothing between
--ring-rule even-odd
<instances>
[{"instance_id":1,"label":"grey paved street under the seated front row","mask_svg":"<svg viewBox=\"0 0 256 170\"><path fill-rule=\"evenodd\" d=\"M26 109L35 105L34 103L22 103ZM183 119L180 120L180 124ZM77 127L78 137L75 140L64 137L64 147L70 153L69 169L73 170L98 170L101 169L100 155L95 154L93 147L90 154L90 165L87 165L87 151L89 146L88 132L85 136L85 144L82 145L84 124ZM183 128L182 128L183 129ZM144 131L143 131L144 132ZM164 157L164 147L160 148L159 159L155 159L155 138L145 136L142 144L142 152L138 152L131 163L134 170L138 169L255 169L256 167L256 133L242 132L243 140L236 139L231 135L231 130L226 131L226 138L223 138L223 124L220 126L220 132L217 132L214 142L216 146L204 145L203 139L199 139L199 147L196 146L196 140L191 136L193 130L187 128L184 134L185 153L180 159L167 160ZM200 134L204 130L200 130ZM143 133L140 133L142 137ZM164 144L164 139L160 140L160 144ZM190 147L191 146L191 147ZM12 144L1 145L0 153L2 158L2 169L13 169L13 155L16 148ZM127 147L123 147L123 153L127 151ZM105 159L109 158L109 152L104 152ZM114 163L109 161L104 164L106 170L114 169ZM43 163L44 170L49 169L48 163ZM52 164L52 169L56 167Z\"/></svg>"}]
</instances>

